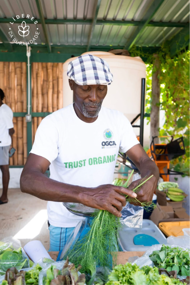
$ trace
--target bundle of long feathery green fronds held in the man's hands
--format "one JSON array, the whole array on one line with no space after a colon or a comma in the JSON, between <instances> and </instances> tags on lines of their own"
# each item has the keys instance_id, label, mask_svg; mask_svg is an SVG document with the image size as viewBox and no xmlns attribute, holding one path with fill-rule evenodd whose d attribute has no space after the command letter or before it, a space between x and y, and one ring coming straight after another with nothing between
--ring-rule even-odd
<instances>
[{"instance_id":1,"label":"bundle of long feathery green fronds held in the man's hands","mask_svg":"<svg viewBox=\"0 0 190 285\"><path fill-rule=\"evenodd\" d=\"M142 180L134 191L138 192L141 186L151 177ZM119 186L127 188L129 179L130 177L124 185L122 185L122 181L116 180L115 185L119 184ZM126 196L126 200L139 202L136 198L129 196ZM151 203L141 204L144 207L151 206ZM155 204L152 207L154 206ZM72 248L68 249L65 258L68 256L71 262L76 265L80 264L82 266L81 272L84 272L86 276L93 276L96 272L96 266L103 267L105 271L106 268L112 268L112 257L113 264L116 260L113 252L118 251L117 234L120 226L120 219L110 212L104 210L95 211L90 230L82 239L76 241Z\"/></svg>"}]
</instances>

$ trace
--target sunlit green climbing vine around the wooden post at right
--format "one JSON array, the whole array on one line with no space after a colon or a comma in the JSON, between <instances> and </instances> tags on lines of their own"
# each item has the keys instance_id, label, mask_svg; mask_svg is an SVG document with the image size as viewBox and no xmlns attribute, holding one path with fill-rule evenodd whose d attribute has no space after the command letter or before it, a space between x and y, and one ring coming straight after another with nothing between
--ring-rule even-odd
<instances>
[{"instance_id":1,"label":"sunlit green climbing vine around the wooden post at right","mask_svg":"<svg viewBox=\"0 0 190 285\"><path fill-rule=\"evenodd\" d=\"M171 167L190 176L190 51L181 52L171 58L169 48L161 47L157 52L161 62L160 109L165 111L165 123L160 135L184 138L186 154L171 161ZM131 56L145 58L147 72L145 111L151 111L152 55L134 47Z\"/></svg>"}]
</instances>

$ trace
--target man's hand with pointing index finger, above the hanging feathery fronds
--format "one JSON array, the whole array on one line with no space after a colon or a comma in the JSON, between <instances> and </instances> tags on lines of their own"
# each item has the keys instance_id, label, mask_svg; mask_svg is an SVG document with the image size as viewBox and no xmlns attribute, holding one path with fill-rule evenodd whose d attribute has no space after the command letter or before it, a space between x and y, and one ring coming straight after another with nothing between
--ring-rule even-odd
<instances>
[{"instance_id":1,"label":"man's hand with pointing index finger, above the hanging feathery fronds","mask_svg":"<svg viewBox=\"0 0 190 285\"><path fill-rule=\"evenodd\" d=\"M124 195L135 198L137 195L129 189L112 184L100 185L95 188L84 188L81 192L80 202L88 207L107 210L117 217L121 217L122 207L126 205Z\"/></svg>"}]
</instances>

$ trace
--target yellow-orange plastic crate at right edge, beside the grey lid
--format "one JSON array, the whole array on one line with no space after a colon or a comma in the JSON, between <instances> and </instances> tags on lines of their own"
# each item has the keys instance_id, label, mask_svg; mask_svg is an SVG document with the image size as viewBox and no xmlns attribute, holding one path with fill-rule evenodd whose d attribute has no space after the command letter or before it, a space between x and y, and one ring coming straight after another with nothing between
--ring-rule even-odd
<instances>
[{"instance_id":1,"label":"yellow-orange plastic crate at right edge, beside the grey lid","mask_svg":"<svg viewBox=\"0 0 190 285\"><path fill-rule=\"evenodd\" d=\"M159 223L158 227L167 237L170 235L178 237L179 235L183 235L182 229L190 228L190 221L162 222Z\"/></svg>"}]
</instances>

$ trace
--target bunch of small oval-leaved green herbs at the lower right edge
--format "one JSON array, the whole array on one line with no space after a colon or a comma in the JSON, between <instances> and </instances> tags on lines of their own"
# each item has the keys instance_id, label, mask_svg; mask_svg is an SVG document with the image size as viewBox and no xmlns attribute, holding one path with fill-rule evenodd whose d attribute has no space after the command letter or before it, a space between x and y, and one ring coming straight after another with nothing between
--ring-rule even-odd
<instances>
[{"instance_id":1,"label":"bunch of small oval-leaved green herbs at the lower right edge","mask_svg":"<svg viewBox=\"0 0 190 285\"><path fill-rule=\"evenodd\" d=\"M159 251L153 251L150 259L158 268L164 268L167 271L176 270L180 276L190 276L189 254L189 250L162 245Z\"/></svg>"}]
</instances>

